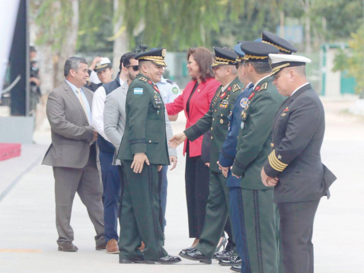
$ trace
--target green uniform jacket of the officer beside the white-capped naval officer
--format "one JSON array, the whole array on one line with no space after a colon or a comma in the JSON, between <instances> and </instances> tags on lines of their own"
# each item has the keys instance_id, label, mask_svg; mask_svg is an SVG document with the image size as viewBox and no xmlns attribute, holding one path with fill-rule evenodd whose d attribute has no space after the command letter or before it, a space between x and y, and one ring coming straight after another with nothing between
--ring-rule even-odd
<instances>
[{"instance_id":1,"label":"green uniform jacket of the officer beside the white-capped naval officer","mask_svg":"<svg viewBox=\"0 0 364 273\"><path fill-rule=\"evenodd\" d=\"M261 182L260 173L271 148L271 128L274 116L284 101L267 76L257 83L249 96L248 105L241 112L237 154L232 172L241 176L242 189L267 190Z\"/></svg>"}]
</instances>

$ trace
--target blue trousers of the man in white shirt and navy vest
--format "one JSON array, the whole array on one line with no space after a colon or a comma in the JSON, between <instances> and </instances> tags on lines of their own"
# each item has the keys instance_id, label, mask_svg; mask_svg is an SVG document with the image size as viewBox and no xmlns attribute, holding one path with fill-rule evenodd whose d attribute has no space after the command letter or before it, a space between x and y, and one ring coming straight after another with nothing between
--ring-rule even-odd
<instances>
[{"instance_id":1,"label":"blue trousers of the man in white shirt and navy vest","mask_svg":"<svg viewBox=\"0 0 364 273\"><path fill-rule=\"evenodd\" d=\"M103 185L105 241L119 241L118 209L120 196L120 179L118 167L111 165L114 153L100 150L101 178Z\"/></svg>"}]
</instances>

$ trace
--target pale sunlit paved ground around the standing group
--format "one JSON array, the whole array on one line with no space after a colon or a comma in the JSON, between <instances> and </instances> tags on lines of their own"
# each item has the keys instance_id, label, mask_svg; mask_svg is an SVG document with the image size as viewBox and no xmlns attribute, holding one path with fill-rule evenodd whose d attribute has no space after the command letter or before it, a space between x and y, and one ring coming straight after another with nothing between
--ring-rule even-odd
<instances>
[{"instance_id":1,"label":"pale sunlit paved ground around the standing group","mask_svg":"<svg viewBox=\"0 0 364 273\"><path fill-rule=\"evenodd\" d=\"M345 114L342 111L345 107L343 103L325 102L327 130L322 157L338 179L331 187L331 199L321 199L316 213L313 237L316 273L363 272L364 122ZM174 132L183 129L181 114L173 126ZM95 232L78 196L71 224L79 251L59 252L52 168L37 163L38 155L44 153L44 145L50 141L47 126L36 132L35 141L42 145L29 147L34 151L27 154L27 160L0 162L0 194L6 188L4 183L21 173L22 165L25 170L36 164L0 201L1 273L232 272L229 267L217 265L217 261L212 265L185 259L176 265L120 265L118 255L95 250ZM171 255L177 255L192 242L187 231L182 146L178 148L178 159L177 168L168 174L165 248Z\"/></svg>"}]
</instances>

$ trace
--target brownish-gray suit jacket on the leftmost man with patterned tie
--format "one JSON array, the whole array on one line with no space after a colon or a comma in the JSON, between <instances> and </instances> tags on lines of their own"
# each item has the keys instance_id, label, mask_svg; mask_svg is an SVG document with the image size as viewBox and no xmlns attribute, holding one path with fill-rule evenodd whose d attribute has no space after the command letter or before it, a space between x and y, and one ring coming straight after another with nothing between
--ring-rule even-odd
<instances>
[{"instance_id":1,"label":"brownish-gray suit jacket on the leftmost man with patterned tie","mask_svg":"<svg viewBox=\"0 0 364 273\"><path fill-rule=\"evenodd\" d=\"M82 90L91 108L93 92L86 87ZM66 82L50 92L46 113L51 124L52 143L42 164L79 169L86 166L94 131L80 101Z\"/></svg>"}]
</instances>

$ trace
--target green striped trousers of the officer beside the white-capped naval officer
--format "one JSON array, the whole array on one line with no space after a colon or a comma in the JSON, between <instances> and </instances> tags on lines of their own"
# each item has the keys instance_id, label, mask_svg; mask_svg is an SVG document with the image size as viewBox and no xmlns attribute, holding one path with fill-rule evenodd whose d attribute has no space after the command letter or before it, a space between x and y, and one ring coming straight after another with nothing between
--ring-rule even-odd
<instances>
[{"instance_id":1,"label":"green striped trousers of the officer beside the white-capped naval officer","mask_svg":"<svg viewBox=\"0 0 364 273\"><path fill-rule=\"evenodd\" d=\"M282 272L279 255L280 219L277 205L273 203L273 190L241 191L252 273Z\"/></svg>"}]
</instances>

